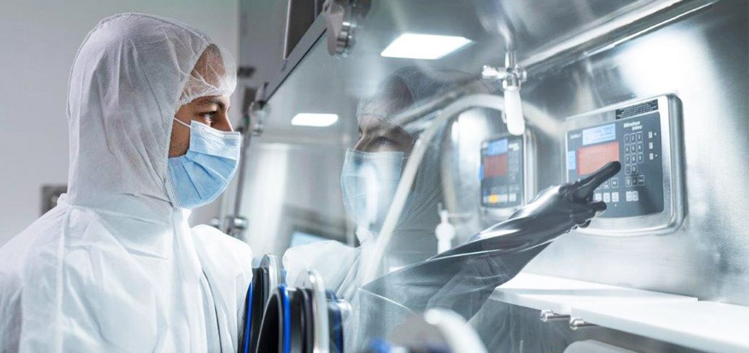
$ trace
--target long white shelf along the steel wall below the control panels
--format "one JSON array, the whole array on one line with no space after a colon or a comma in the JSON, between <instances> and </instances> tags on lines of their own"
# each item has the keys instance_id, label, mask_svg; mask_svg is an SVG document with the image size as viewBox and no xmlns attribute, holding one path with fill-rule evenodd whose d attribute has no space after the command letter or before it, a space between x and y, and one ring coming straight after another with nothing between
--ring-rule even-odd
<instances>
[{"instance_id":1,"label":"long white shelf along the steel wall below the control panels","mask_svg":"<svg viewBox=\"0 0 749 353\"><path fill-rule=\"evenodd\" d=\"M524 273L490 298L692 349L749 352L749 307Z\"/></svg>"}]
</instances>

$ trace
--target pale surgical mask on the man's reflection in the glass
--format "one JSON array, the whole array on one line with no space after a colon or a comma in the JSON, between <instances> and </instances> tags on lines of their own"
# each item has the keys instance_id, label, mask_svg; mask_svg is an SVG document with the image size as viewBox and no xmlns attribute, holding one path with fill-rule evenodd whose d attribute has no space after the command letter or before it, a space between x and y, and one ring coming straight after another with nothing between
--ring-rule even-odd
<instances>
[{"instance_id":1,"label":"pale surgical mask on the man's reflection in the glass","mask_svg":"<svg viewBox=\"0 0 749 353\"><path fill-rule=\"evenodd\" d=\"M401 180L404 161L403 152L346 152L341 172L343 203L357 226L379 232Z\"/></svg>"}]
</instances>

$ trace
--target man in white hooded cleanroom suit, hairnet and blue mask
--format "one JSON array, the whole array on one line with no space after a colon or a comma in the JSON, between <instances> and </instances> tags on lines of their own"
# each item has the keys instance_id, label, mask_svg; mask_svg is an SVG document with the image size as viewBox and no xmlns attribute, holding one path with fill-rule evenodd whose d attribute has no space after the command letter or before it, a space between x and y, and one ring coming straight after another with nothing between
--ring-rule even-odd
<instances>
[{"instance_id":1,"label":"man in white hooded cleanroom suit, hairnet and blue mask","mask_svg":"<svg viewBox=\"0 0 749 353\"><path fill-rule=\"evenodd\" d=\"M189 211L237 168L228 52L124 13L70 73L68 193L0 249L0 352L237 352L252 253Z\"/></svg>"}]
</instances>

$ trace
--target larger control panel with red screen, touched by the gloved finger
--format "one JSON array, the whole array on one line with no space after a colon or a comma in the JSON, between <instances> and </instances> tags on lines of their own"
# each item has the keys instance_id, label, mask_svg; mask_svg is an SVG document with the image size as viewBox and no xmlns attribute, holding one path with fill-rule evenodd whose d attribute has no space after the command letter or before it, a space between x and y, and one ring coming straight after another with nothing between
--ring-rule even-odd
<instances>
[{"instance_id":1,"label":"larger control panel with red screen, touched by the gloved finger","mask_svg":"<svg viewBox=\"0 0 749 353\"><path fill-rule=\"evenodd\" d=\"M659 96L565 120L565 176L586 177L607 162L622 170L595 189L607 209L583 233L659 233L681 224L683 206L679 100Z\"/></svg>"}]
</instances>

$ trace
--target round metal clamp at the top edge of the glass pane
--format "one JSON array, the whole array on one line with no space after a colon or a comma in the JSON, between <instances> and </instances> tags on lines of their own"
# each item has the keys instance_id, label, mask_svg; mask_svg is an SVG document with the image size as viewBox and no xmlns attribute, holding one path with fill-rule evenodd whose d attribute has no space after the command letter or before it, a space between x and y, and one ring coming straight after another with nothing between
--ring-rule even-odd
<instances>
[{"instance_id":1,"label":"round metal clamp at the top edge of the glass pane","mask_svg":"<svg viewBox=\"0 0 749 353\"><path fill-rule=\"evenodd\" d=\"M327 0L323 5L328 52L345 58L354 46L357 25L369 12L370 0Z\"/></svg>"}]
</instances>

